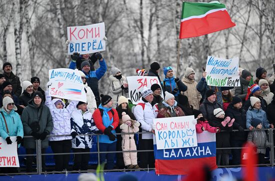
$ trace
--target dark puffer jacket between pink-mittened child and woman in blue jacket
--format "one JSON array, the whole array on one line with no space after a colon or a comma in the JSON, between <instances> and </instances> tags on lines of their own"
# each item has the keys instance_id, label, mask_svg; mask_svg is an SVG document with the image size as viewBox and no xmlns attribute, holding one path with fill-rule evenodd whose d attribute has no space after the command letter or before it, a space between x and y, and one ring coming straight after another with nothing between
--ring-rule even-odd
<instances>
[{"instance_id":1,"label":"dark puffer jacket between pink-mittened child and woman in blue jacket","mask_svg":"<svg viewBox=\"0 0 275 181\"><path fill-rule=\"evenodd\" d=\"M246 128L246 111L242 107L236 109L233 104L230 103L225 111L225 115L229 116L231 119L235 119L233 122L233 129L239 129L239 126L243 129ZM230 140L245 141L247 139L247 134L247 131L231 132Z\"/></svg>"}]
</instances>

